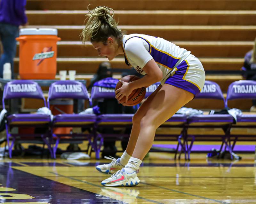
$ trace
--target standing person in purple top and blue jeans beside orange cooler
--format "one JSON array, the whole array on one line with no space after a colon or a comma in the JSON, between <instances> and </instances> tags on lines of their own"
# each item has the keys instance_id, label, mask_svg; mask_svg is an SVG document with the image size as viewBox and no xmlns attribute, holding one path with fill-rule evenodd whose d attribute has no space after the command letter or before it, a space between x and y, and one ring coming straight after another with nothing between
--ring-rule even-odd
<instances>
[{"instance_id":1,"label":"standing person in purple top and blue jeans beside orange cooler","mask_svg":"<svg viewBox=\"0 0 256 204\"><path fill-rule=\"evenodd\" d=\"M0 1L0 37L4 49L0 59L1 78L3 78L3 67L6 62L11 63L13 78L13 58L16 55L15 38L19 37L19 26L28 24L25 6L26 0Z\"/></svg>"}]
</instances>

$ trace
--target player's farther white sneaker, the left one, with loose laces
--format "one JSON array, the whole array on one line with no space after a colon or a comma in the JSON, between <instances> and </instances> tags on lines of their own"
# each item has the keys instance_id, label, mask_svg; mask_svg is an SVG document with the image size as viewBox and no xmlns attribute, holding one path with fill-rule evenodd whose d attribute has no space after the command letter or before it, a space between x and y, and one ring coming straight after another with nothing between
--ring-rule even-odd
<instances>
[{"instance_id":1,"label":"player's farther white sneaker, the left one, with loose laces","mask_svg":"<svg viewBox=\"0 0 256 204\"><path fill-rule=\"evenodd\" d=\"M104 158L111 159L112 162L110 164L102 164L96 166L96 169L102 173L113 174L124 167L122 164L120 164L120 158L116 159L111 156Z\"/></svg>"}]
</instances>

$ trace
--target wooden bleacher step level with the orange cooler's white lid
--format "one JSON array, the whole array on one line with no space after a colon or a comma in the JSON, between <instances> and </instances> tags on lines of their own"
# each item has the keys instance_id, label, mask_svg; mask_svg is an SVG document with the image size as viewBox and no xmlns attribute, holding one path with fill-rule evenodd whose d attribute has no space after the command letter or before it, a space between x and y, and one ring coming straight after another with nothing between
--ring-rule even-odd
<instances>
[{"instance_id":1,"label":"wooden bleacher step level with the orange cooler's white lid","mask_svg":"<svg viewBox=\"0 0 256 204\"><path fill-rule=\"evenodd\" d=\"M83 25L29 25L28 28L56 28L63 41L79 41ZM256 25L120 25L127 33L140 33L166 40L250 41L255 38Z\"/></svg>"}]
</instances>

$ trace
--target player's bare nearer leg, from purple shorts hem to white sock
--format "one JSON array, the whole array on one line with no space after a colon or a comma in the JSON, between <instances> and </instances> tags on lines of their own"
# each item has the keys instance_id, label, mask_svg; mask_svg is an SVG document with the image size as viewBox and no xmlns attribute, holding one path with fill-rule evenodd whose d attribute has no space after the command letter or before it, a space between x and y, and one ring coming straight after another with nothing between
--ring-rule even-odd
<instances>
[{"instance_id":1,"label":"player's bare nearer leg, from purple shorts hem to white sock","mask_svg":"<svg viewBox=\"0 0 256 204\"><path fill-rule=\"evenodd\" d=\"M193 98L194 94L188 91L164 84L140 122L140 134L132 157L142 160L153 144L156 128Z\"/></svg>"}]
</instances>

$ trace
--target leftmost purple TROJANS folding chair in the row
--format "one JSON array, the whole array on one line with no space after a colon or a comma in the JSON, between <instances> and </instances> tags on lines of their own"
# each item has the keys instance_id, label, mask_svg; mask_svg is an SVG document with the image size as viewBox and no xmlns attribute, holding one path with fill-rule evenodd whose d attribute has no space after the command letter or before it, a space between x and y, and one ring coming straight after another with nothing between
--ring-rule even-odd
<instances>
[{"instance_id":1,"label":"leftmost purple TROJANS folding chair in the row","mask_svg":"<svg viewBox=\"0 0 256 204\"><path fill-rule=\"evenodd\" d=\"M43 91L41 87L34 81L30 80L13 80L8 82L4 86L4 93L3 93L3 108L5 108L4 100L7 99L14 99L14 98L37 98L44 100L44 106L46 106L46 101L43 95ZM24 139L27 142L31 142L31 139L28 140L30 137L34 140L38 140L36 137L40 136L42 138L44 144L47 145L51 156L52 155L52 148L50 144L51 135L50 135L50 122L51 117L49 115L44 114L11 114L7 116L7 121L5 123L6 128L6 135L7 135L7 143L9 147L9 157L12 158L12 148L14 142L16 141L17 137L19 139ZM14 127L36 127L36 128L44 128L45 133L42 134L12 134L11 129ZM10 144L10 139L12 138L12 143ZM32 143L33 143L32 141Z\"/></svg>"}]
</instances>

